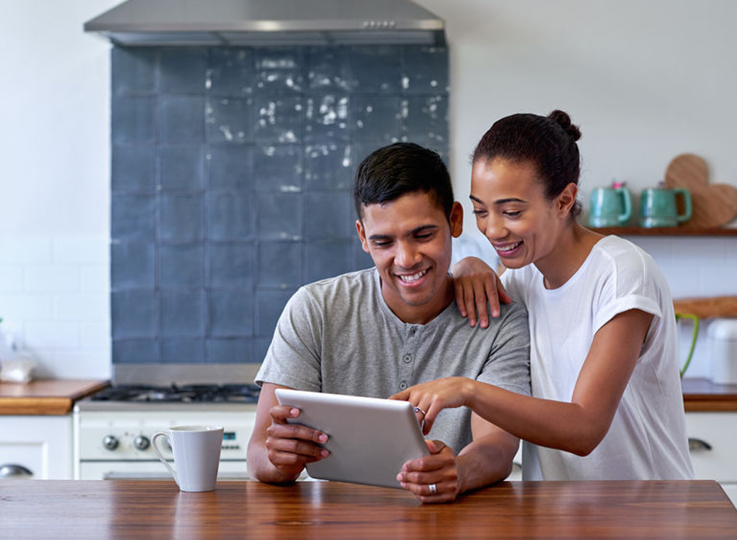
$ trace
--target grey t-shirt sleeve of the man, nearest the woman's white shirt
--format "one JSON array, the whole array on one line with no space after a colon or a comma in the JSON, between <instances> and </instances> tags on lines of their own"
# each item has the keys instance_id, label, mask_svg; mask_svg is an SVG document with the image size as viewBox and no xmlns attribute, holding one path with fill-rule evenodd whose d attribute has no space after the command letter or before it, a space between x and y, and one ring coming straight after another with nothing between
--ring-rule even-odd
<instances>
[{"instance_id":1,"label":"grey t-shirt sleeve of the man, nearest the woman's white shirt","mask_svg":"<svg viewBox=\"0 0 737 540\"><path fill-rule=\"evenodd\" d=\"M492 351L477 380L510 392L531 394L530 329L527 309L520 302L502 306Z\"/></svg>"}]
</instances>

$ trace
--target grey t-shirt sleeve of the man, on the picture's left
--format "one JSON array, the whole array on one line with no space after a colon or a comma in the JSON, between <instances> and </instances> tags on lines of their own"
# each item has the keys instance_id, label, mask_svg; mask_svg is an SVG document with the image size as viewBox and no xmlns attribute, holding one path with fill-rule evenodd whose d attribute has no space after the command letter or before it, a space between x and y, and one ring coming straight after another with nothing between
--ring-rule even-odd
<instances>
[{"instance_id":1,"label":"grey t-shirt sleeve of the man, on the picture's left","mask_svg":"<svg viewBox=\"0 0 737 540\"><path fill-rule=\"evenodd\" d=\"M271 382L297 390L321 390L321 310L304 287L299 289L276 323L271 344L255 382Z\"/></svg>"}]
</instances>

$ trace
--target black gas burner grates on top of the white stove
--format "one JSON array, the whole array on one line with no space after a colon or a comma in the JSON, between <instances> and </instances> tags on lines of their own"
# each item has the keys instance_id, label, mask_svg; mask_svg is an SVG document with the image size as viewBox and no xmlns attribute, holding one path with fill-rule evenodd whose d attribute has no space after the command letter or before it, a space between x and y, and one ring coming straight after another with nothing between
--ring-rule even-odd
<instances>
[{"instance_id":1,"label":"black gas burner grates on top of the white stove","mask_svg":"<svg viewBox=\"0 0 737 540\"><path fill-rule=\"evenodd\" d=\"M256 385L115 385L91 396L95 402L255 403Z\"/></svg>"}]
</instances>

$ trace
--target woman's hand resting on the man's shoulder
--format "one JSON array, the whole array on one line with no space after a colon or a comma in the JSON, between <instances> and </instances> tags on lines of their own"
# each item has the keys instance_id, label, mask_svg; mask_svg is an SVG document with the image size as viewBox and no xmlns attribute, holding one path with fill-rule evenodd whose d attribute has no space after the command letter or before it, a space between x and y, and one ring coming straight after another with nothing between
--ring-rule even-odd
<instances>
[{"instance_id":1,"label":"woman's hand resting on the man's shoulder","mask_svg":"<svg viewBox=\"0 0 737 540\"><path fill-rule=\"evenodd\" d=\"M499 316L499 302L509 304L511 298L488 264L477 257L466 257L453 264L455 304L461 315L476 326L476 314L481 328L489 326L489 309L492 317ZM488 307L487 307L488 305Z\"/></svg>"}]
</instances>

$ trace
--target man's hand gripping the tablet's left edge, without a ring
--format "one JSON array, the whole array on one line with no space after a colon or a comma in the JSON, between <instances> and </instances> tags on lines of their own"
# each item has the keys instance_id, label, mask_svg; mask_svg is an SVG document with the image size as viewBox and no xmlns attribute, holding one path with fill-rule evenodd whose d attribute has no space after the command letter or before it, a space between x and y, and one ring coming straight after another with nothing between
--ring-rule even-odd
<instances>
[{"instance_id":1,"label":"man's hand gripping the tablet's left edge, without a ring","mask_svg":"<svg viewBox=\"0 0 737 540\"><path fill-rule=\"evenodd\" d=\"M287 423L287 418L299 418L299 409L287 405L270 408L271 425L266 429L266 451L269 461L287 477L298 476L307 463L328 457L329 452L318 446L327 435L317 429Z\"/></svg>"}]
</instances>

